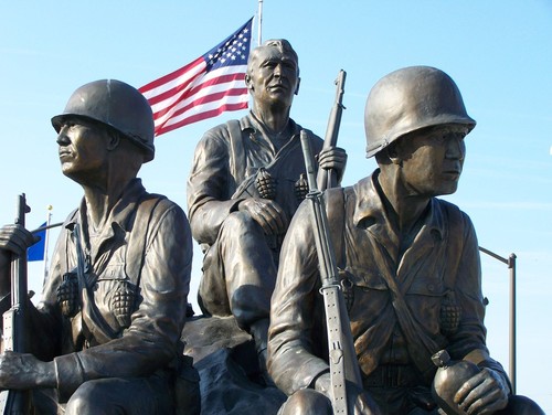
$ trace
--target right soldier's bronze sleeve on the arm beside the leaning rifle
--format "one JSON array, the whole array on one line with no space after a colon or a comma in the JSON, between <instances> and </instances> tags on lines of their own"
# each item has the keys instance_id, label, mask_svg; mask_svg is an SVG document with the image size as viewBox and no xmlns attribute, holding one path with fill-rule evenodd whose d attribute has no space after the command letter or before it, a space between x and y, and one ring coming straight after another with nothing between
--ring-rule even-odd
<instances>
[{"instance_id":1,"label":"right soldier's bronze sleeve on the arm beside the leaning rifle","mask_svg":"<svg viewBox=\"0 0 552 415\"><path fill-rule=\"evenodd\" d=\"M299 206L286 235L270 309L267 368L288 395L328 371L327 362L314 353L316 342L325 340L316 328L320 284L308 203Z\"/></svg>"}]
</instances>

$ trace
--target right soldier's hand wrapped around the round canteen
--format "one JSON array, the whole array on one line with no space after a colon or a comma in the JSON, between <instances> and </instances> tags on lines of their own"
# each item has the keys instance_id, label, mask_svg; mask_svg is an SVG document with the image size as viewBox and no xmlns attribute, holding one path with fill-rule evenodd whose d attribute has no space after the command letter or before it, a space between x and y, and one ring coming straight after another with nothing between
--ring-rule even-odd
<instances>
[{"instance_id":1,"label":"right soldier's hand wrapped around the round canteen","mask_svg":"<svg viewBox=\"0 0 552 415\"><path fill-rule=\"evenodd\" d=\"M469 415L492 414L506 407L508 392L502 375L484 368L460 386L454 400Z\"/></svg>"}]
</instances>

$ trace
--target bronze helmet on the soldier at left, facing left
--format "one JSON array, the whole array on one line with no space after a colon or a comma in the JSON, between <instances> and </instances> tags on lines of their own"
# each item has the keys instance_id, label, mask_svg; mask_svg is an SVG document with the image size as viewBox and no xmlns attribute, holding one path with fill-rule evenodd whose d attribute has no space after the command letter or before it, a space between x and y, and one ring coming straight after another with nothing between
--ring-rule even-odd
<instances>
[{"instance_id":1,"label":"bronze helmet on the soldier at left, facing left","mask_svg":"<svg viewBox=\"0 0 552 415\"><path fill-rule=\"evenodd\" d=\"M116 79L91 82L71 95L63 114L52 118L57 132L67 118L99 121L121 132L153 159L153 115L148 100L135 87Z\"/></svg>"}]
</instances>

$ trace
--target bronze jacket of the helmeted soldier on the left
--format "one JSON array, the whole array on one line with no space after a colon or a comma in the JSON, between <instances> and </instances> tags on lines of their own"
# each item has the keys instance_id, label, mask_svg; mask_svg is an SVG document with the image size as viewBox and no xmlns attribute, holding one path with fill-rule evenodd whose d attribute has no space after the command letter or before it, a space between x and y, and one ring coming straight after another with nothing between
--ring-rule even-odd
<instances>
[{"instance_id":1,"label":"bronze jacket of the helmeted soldier on the left","mask_svg":"<svg viewBox=\"0 0 552 415\"><path fill-rule=\"evenodd\" d=\"M86 223L84 200L64 223L42 300L31 312L32 352L42 360L54 359L62 398L88 380L152 375L169 368L182 352L179 341L192 264L191 232L183 211L167 199L159 200L146 221L135 223L139 202L151 198L135 179L114 206L98 243L87 251L92 266L88 284L102 318L113 331L112 339L92 334L94 323L79 310L72 317L61 311L57 288L63 275L76 267L70 228L74 223ZM146 237L144 253L128 249L130 235L137 232ZM138 288L136 307L126 323L114 309L120 287Z\"/></svg>"}]
</instances>

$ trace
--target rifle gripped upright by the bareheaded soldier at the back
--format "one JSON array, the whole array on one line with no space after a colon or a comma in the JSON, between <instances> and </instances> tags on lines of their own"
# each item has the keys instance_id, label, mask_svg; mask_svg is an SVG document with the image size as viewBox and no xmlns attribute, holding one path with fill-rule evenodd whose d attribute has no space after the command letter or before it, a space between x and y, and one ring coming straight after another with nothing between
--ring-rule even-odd
<instances>
[{"instance_id":1,"label":"rifle gripped upright by the bareheaded soldier at the back","mask_svg":"<svg viewBox=\"0 0 552 415\"><path fill-rule=\"evenodd\" d=\"M330 118L328 120L328 128L326 129L326 137L323 139L322 149L336 147L338 142L339 126L341 125L341 114L343 113L344 106L342 104L344 94L344 81L347 72L343 70L339 71L338 77L335 82L336 88L336 100L331 107ZM320 170L319 174L319 188L320 191L326 189L335 188L338 185L338 180L336 172L332 170Z\"/></svg>"}]
</instances>

